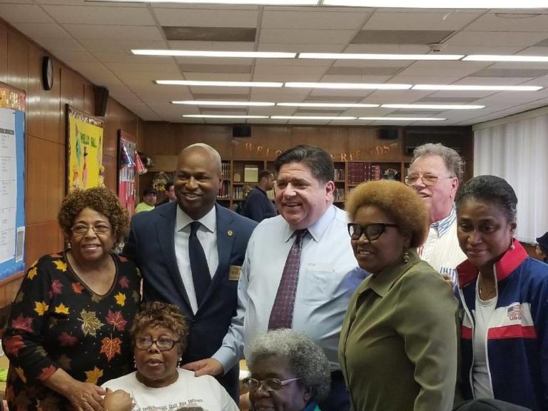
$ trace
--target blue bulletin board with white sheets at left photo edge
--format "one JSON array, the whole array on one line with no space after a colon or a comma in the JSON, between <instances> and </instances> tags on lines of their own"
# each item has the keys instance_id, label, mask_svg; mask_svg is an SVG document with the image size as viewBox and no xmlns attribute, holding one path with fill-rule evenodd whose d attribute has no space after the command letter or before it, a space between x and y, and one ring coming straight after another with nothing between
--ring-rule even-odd
<instances>
[{"instance_id":1,"label":"blue bulletin board with white sheets at left photo edge","mask_svg":"<svg viewBox=\"0 0 548 411\"><path fill-rule=\"evenodd\" d=\"M0 83L0 280L25 268L25 106Z\"/></svg>"}]
</instances>

